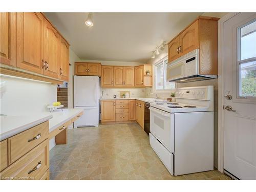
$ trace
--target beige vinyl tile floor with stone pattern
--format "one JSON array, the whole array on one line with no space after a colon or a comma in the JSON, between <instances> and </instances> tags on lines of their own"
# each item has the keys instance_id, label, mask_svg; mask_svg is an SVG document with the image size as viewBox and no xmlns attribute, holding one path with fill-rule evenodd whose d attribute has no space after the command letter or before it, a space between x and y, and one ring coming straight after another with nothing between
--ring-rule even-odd
<instances>
[{"instance_id":1,"label":"beige vinyl tile floor with stone pattern","mask_svg":"<svg viewBox=\"0 0 256 192\"><path fill-rule=\"evenodd\" d=\"M218 170L172 176L137 123L68 130L50 151L50 180L230 180Z\"/></svg>"}]
</instances>

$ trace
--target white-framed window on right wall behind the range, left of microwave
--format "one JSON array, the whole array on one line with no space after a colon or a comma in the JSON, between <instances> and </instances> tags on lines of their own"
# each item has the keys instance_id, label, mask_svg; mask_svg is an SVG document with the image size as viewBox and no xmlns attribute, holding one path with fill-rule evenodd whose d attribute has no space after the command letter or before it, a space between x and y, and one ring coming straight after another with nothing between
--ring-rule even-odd
<instances>
[{"instance_id":1,"label":"white-framed window on right wall behind the range, left of microwave","mask_svg":"<svg viewBox=\"0 0 256 192\"><path fill-rule=\"evenodd\" d=\"M175 83L166 81L166 66L168 58L165 57L157 62L154 69L155 89L156 91L165 91L175 89Z\"/></svg>"}]
</instances>

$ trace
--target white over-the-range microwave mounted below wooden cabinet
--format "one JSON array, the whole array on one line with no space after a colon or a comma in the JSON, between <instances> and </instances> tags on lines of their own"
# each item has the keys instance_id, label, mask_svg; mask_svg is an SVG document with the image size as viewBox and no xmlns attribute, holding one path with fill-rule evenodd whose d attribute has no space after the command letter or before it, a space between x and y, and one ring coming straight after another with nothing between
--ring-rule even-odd
<instances>
[{"instance_id":1,"label":"white over-the-range microwave mounted below wooden cabinet","mask_svg":"<svg viewBox=\"0 0 256 192\"><path fill-rule=\"evenodd\" d=\"M192 82L215 79L217 75L201 75L199 72L199 49L195 49L167 64L166 80L172 82Z\"/></svg>"}]
</instances>

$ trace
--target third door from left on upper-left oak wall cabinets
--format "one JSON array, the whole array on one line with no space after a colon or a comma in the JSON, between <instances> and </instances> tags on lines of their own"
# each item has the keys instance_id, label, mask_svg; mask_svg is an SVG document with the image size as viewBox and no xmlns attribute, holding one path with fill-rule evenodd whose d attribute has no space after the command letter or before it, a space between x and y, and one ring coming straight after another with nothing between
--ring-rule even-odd
<instances>
[{"instance_id":1,"label":"third door from left on upper-left oak wall cabinets","mask_svg":"<svg viewBox=\"0 0 256 192\"><path fill-rule=\"evenodd\" d=\"M53 78L58 78L59 73L59 39L60 35L53 26L45 19L44 32L44 74Z\"/></svg>"}]
</instances>

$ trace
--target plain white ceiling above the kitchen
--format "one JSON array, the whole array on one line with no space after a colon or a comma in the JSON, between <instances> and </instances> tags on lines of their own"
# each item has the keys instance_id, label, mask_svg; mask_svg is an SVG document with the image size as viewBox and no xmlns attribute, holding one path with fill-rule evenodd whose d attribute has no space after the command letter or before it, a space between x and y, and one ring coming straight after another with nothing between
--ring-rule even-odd
<instances>
[{"instance_id":1,"label":"plain white ceiling above the kitchen","mask_svg":"<svg viewBox=\"0 0 256 192\"><path fill-rule=\"evenodd\" d=\"M146 62L202 13L45 13L80 59Z\"/></svg>"}]
</instances>

